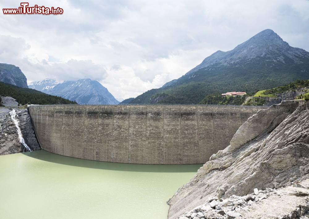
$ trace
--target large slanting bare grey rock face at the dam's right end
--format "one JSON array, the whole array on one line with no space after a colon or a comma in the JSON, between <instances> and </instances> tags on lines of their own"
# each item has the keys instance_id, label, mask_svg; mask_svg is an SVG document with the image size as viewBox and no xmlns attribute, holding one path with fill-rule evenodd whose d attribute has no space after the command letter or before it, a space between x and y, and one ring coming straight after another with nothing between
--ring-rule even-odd
<instances>
[{"instance_id":1,"label":"large slanting bare grey rock face at the dam's right end","mask_svg":"<svg viewBox=\"0 0 309 219\"><path fill-rule=\"evenodd\" d=\"M177 218L209 197L280 188L309 173L308 103L286 101L248 118L231 145L210 158L168 201ZM309 176L308 176L309 177Z\"/></svg>"}]
</instances>

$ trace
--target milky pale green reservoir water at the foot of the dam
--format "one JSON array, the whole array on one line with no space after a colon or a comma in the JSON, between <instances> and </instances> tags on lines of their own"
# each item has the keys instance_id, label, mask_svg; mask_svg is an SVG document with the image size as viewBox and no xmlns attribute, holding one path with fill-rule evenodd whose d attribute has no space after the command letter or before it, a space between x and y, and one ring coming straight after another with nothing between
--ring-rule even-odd
<instances>
[{"instance_id":1,"label":"milky pale green reservoir water at the foot of the dam","mask_svg":"<svg viewBox=\"0 0 309 219\"><path fill-rule=\"evenodd\" d=\"M34 151L0 156L0 218L166 219L166 201L201 165L89 161Z\"/></svg>"}]
</instances>

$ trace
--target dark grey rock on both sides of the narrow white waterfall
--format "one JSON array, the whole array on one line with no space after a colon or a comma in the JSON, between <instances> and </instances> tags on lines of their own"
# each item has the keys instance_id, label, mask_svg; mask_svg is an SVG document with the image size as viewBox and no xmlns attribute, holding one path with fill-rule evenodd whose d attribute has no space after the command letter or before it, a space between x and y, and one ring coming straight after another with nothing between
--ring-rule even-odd
<instances>
[{"instance_id":1,"label":"dark grey rock on both sides of the narrow white waterfall","mask_svg":"<svg viewBox=\"0 0 309 219\"><path fill-rule=\"evenodd\" d=\"M40 146L34 133L28 109L16 109L16 112L19 121L18 125L25 143L32 151L39 150ZM16 126L9 113L9 109L0 109L0 155L26 151L23 144L20 143Z\"/></svg>"}]
</instances>

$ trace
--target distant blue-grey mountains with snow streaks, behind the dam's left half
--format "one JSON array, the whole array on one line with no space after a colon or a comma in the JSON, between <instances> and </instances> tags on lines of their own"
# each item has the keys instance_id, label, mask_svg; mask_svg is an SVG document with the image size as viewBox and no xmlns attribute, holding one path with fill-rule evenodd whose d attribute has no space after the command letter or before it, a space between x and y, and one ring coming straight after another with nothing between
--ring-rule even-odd
<instances>
[{"instance_id":1,"label":"distant blue-grey mountains with snow streaks, behind the dam's left half","mask_svg":"<svg viewBox=\"0 0 309 219\"><path fill-rule=\"evenodd\" d=\"M118 104L119 101L98 81L80 79L59 83L52 79L33 82L31 87L44 93L60 96L78 104Z\"/></svg>"}]
</instances>

